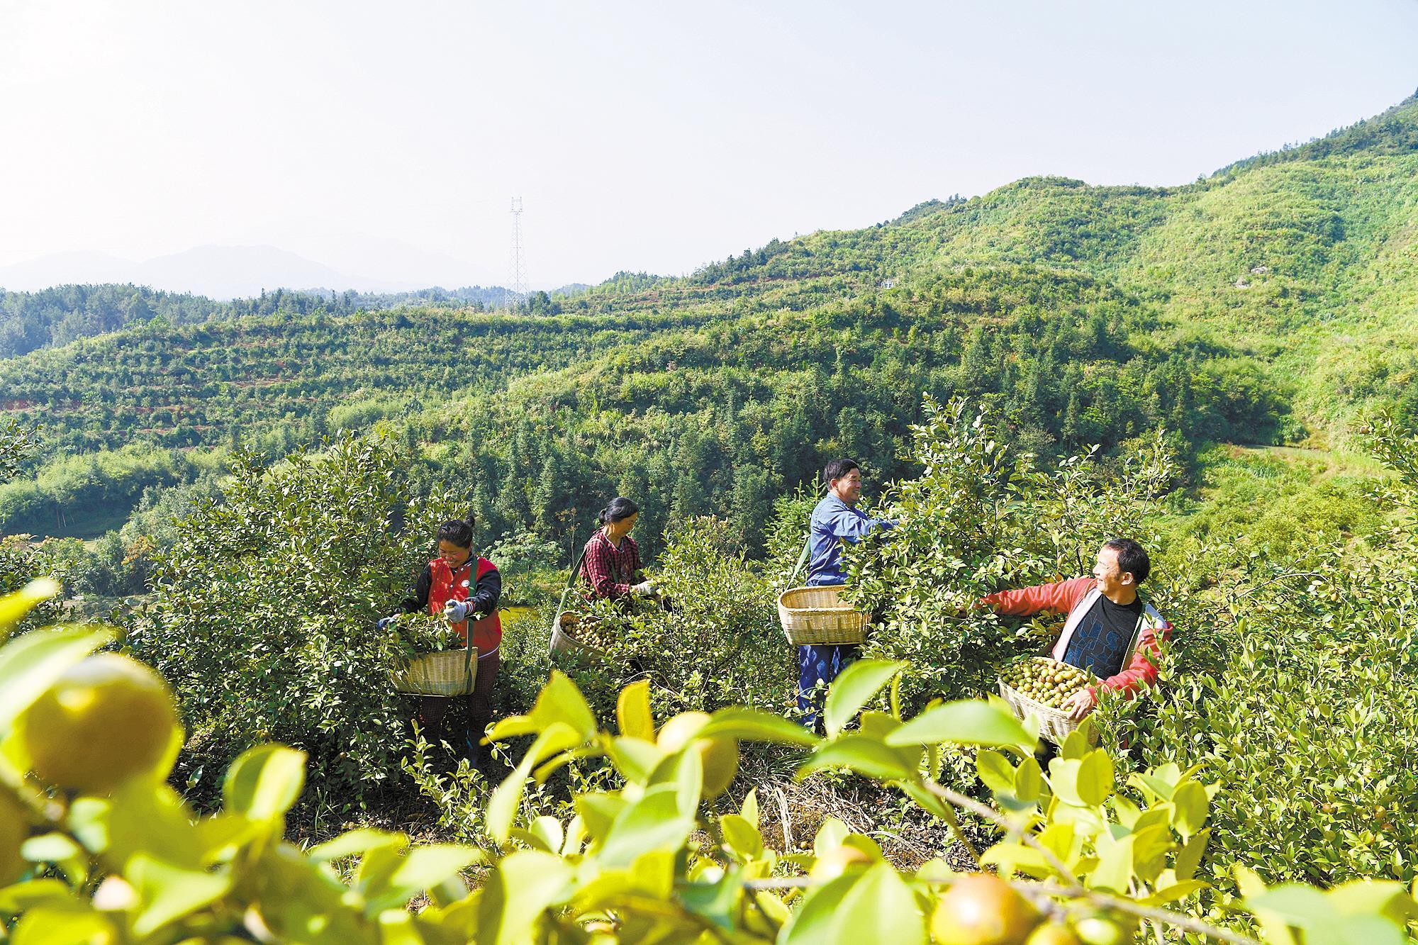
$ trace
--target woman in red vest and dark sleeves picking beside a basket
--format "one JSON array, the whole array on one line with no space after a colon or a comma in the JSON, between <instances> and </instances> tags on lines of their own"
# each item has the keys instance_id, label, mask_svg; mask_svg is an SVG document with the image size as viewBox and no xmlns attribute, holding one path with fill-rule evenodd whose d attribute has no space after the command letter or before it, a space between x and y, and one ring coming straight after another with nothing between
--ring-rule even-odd
<instances>
[{"instance_id":1,"label":"woman in red vest and dark sleeves picking beside a basket","mask_svg":"<svg viewBox=\"0 0 1418 945\"><path fill-rule=\"evenodd\" d=\"M413 595L404 599L400 612L447 612L464 644L471 639L472 646L478 647L478 674L471 695L424 695L418 700L418 721L432 738L438 738L444 715L452 702L452 738L448 741L476 763L481 753L478 742L492 721L492 687L498 681L498 647L502 644L498 597L502 595L502 575L486 558L474 558L472 522L472 515L468 515L467 521L438 526L434 535L438 556L418 575Z\"/></svg>"}]
</instances>

